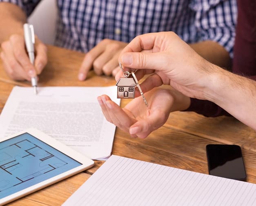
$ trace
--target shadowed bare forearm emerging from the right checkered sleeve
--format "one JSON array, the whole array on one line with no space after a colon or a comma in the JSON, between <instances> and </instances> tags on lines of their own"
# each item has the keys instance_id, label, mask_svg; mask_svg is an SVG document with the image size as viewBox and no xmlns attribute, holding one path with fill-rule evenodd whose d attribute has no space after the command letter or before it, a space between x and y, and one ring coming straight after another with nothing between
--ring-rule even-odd
<instances>
[{"instance_id":1,"label":"shadowed bare forearm emerging from the right checkered sleeve","mask_svg":"<svg viewBox=\"0 0 256 206\"><path fill-rule=\"evenodd\" d=\"M189 46L207 61L220 67L230 69L231 59L229 53L217 42L208 40L189 44Z\"/></svg>"}]
</instances>

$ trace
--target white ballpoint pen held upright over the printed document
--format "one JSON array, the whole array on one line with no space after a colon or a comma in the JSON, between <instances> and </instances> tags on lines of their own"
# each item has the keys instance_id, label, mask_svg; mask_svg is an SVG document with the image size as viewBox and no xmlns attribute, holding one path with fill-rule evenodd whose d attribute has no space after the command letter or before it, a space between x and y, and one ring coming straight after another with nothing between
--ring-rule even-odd
<instances>
[{"instance_id":1,"label":"white ballpoint pen held upright over the printed document","mask_svg":"<svg viewBox=\"0 0 256 206\"><path fill-rule=\"evenodd\" d=\"M35 33L34 28L32 24L24 24L24 38L25 38L25 44L27 48L27 53L29 55L29 60L31 64L34 65L35 61L35 50L34 50L34 44L35 44ZM37 94L37 77L31 78L31 84L34 89L34 93Z\"/></svg>"}]
</instances>

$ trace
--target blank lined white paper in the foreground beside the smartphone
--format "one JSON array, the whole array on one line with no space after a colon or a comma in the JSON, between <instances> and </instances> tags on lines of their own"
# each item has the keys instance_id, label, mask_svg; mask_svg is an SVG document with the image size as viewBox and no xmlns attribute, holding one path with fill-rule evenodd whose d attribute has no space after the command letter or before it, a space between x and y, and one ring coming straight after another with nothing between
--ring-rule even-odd
<instances>
[{"instance_id":1,"label":"blank lined white paper in the foreground beside the smartphone","mask_svg":"<svg viewBox=\"0 0 256 206\"><path fill-rule=\"evenodd\" d=\"M256 184L112 155L63 206L256 206Z\"/></svg>"}]
</instances>

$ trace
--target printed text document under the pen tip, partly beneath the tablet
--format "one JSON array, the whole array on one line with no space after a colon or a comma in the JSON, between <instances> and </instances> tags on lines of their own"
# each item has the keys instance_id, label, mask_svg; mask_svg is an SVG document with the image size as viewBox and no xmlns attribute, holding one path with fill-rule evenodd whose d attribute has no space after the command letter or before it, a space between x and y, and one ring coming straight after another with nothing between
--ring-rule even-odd
<instances>
[{"instance_id":1,"label":"printed text document under the pen tip, partly beneath the tablet","mask_svg":"<svg viewBox=\"0 0 256 206\"><path fill-rule=\"evenodd\" d=\"M15 86L0 115L0 137L37 128L91 159L109 157L116 126L107 122L97 97L107 94L120 105L116 86Z\"/></svg>"}]
</instances>

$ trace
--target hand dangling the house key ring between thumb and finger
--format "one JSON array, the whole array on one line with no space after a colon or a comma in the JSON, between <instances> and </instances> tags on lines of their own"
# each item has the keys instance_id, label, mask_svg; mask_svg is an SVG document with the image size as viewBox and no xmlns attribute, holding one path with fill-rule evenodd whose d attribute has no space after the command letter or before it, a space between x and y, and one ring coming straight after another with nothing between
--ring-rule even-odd
<instances>
[{"instance_id":1,"label":"hand dangling the house key ring between thumb and finger","mask_svg":"<svg viewBox=\"0 0 256 206\"><path fill-rule=\"evenodd\" d=\"M162 84L171 85L184 95L205 99L205 85L214 66L198 55L174 32L139 35L123 49L119 61L125 70L139 69L136 77L151 74L140 84L142 91ZM116 80L122 76L116 75Z\"/></svg>"}]
</instances>

